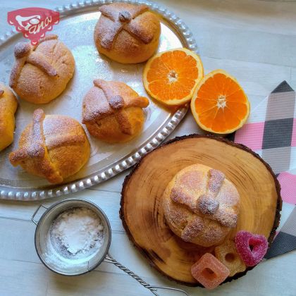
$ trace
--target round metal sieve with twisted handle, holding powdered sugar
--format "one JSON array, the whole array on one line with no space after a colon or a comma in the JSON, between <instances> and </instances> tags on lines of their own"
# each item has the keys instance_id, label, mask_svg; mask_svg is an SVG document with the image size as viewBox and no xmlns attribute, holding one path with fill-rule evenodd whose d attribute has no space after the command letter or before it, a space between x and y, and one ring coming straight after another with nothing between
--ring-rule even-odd
<instances>
[{"instance_id":1,"label":"round metal sieve with twisted handle, holding powdered sugar","mask_svg":"<svg viewBox=\"0 0 296 296\"><path fill-rule=\"evenodd\" d=\"M35 216L40 208L47 209L39 221ZM128 273L154 295L158 289L187 292L177 288L149 285L109 254L111 226L99 206L85 199L66 199L49 208L40 205L31 218L37 225L35 248L41 261L51 271L78 276L95 269L102 261Z\"/></svg>"}]
</instances>

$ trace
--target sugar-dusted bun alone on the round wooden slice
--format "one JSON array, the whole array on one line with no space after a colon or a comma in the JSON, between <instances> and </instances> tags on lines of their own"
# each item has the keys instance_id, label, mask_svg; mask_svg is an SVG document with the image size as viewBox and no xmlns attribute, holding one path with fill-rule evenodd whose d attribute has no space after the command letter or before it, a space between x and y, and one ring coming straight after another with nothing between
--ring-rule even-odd
<instances>
[{"instance_id":1,"label":"sugar-dusted bun alone on the round wooden slice","mask_svg":"<svg viewBox=\"0 0 296 296\"><path fill-rule=\"evenodd\" d=\"M221 171L209 166L184 168L168 184L163 198L168 226L186 242L218 245L236 227L238 190Z\"/></svg>"}]
</instances>

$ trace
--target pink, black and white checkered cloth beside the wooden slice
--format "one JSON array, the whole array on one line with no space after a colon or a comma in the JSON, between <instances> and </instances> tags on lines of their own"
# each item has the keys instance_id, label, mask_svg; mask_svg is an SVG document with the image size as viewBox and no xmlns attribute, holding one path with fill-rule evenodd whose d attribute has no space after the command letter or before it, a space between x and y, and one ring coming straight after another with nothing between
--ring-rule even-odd
<instances>
[{"instance_id":1,"label":"pink, black and white checkered cloth beside the wooden slice","mask_svg":"<svg viewBox=\"0 0 296 296\"><path fill-rule=\"evenodd\" d=\"M278 175L283 198L280 228L266 259L296 249L296 104L295 91L282 82L252 111L230 140L257 152ZM292 168L295 170L290 171Z\"/></svg>"}]
</instances>

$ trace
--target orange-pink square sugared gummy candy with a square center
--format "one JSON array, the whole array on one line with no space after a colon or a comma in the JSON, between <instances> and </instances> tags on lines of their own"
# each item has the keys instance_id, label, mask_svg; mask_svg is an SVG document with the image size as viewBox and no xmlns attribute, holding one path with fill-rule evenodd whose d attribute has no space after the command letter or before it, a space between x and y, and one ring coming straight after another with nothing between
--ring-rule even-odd
<instances>
[{"instance_id":1,"label":"orange-pink square sugared gummy candy with a square center","mask_svg":"<svg viewBox=\"0 0 296 296\"><path fill-rule=\"evenodd\" d=\"M214 255L204 254L191 266L192 276L207 289L214 289L229 276L229 269Z\"/></svg>"}]
</instances>

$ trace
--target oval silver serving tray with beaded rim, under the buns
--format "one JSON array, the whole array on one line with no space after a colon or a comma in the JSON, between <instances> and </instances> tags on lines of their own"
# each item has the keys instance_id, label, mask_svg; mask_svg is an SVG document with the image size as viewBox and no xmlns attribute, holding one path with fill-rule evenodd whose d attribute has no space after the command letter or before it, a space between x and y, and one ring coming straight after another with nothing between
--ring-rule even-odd
<instances>
[{"instance_id":1,"label":"oval silver serving tray with beaded rim, under the buns","mask_svg":"<svg viewBox=\"0 0 296 296\"><path fill-rule=\"evenodd\" d=\"M47 180L26 173L19 166L13 168L8 161L8 154L18 146L20 133L32 120L32 112L42 108L47 114L64 114L81 121L82 99L92 87L92 80L120 80L132 87L142 96L148 96L142 85L144 63L123 65L98 54L94 47L94 25L100 16L98 7L113 1L82 1L56 8L61 21L53 28L72 51L75 57L75 73L66 90L60 97L45 105L30 104L19 99L16 113L15 140L10 147L0 152L0 199L37 200L70 192L77 192L99 184L125 171L140 160L170 135L185 116L188 107L168 111L150 100L146 112L146 121L140 137L125 144L105 144L89 136L91 156L87 165L62 185L49 185ZM158 4L147 1L125 1L132 4L147 4L161 16L161 38L159 51L171 48L187 47L197 51L197 44L192 33L178 16ZM13 47L23 36L11 30L0 37L0 80L8 85L13 65Z\"/></svg>"}]
</instances>

